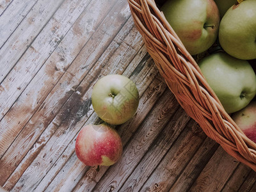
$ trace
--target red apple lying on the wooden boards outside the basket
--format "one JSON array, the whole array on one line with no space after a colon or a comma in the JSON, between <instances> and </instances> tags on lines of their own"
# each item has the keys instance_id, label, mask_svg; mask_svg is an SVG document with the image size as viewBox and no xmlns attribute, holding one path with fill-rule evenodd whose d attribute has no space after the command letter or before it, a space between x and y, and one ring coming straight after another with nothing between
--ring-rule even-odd
<instances>
[{"instance_id":1,"label":"red apple lying on the wooden boards outside the basket","mask_svg":"<svg viewBox=\"0 0 256 192\"><path fill-rule=\"evenodd\" d=\"M110 166L122 156L118 133L107 124L85 125L76 139L76 156L88 166Z\"/></svg>"}]
</instances>

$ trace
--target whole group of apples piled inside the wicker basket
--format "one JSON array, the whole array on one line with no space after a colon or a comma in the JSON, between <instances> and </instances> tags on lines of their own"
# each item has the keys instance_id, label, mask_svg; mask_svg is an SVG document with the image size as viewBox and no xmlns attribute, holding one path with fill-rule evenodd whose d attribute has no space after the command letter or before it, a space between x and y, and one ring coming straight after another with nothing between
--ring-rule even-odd
<instances>
[{"instance_id":1,"label":"whole group of apples piled inside the wicker basket","mask_svg":"<svg viewBox=\"0 0 256 192\"><path fill-rule=\"evenodd\" d=\"M256 0L168 0L160 10L192 56L208 53L202 74L256 143Z\"/></svg>"}]
</instances>

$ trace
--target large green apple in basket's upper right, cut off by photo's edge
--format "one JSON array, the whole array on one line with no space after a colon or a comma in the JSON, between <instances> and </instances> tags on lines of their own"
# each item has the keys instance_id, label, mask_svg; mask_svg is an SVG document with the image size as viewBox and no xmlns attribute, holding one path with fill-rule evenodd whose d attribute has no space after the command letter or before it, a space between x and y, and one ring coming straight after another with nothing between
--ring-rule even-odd
<instances>
[{"instance_id":1,"label":"large green apple in basket's upper right, cut off by photo's edge","mask_svg":"<svg viewBox=\"0 0 256 192\"><path fill-rule=\"evenodd\" d=\"M227 10L220 22L221 47L241 60L256 58L256 1L246 0Z\"/></svg>"}]
</instances>

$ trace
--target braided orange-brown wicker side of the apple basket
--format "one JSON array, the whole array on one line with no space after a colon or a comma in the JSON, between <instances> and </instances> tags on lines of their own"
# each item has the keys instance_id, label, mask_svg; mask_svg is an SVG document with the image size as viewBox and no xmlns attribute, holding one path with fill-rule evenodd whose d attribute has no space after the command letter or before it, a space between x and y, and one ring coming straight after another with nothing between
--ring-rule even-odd
<instances>
[{"instance_id":1,"label":"braided orange-brown wicker side of the apple basket","mask_svg":"<svg viewBox=\"0 0 256 192\"><path fill-rule=\"evenodd\" d=\"M256 144L225 112L194 58L168 24L154 0L128 0L136 28L166 84L209 138L256 171Z\"/></svg>"}]
</instances>

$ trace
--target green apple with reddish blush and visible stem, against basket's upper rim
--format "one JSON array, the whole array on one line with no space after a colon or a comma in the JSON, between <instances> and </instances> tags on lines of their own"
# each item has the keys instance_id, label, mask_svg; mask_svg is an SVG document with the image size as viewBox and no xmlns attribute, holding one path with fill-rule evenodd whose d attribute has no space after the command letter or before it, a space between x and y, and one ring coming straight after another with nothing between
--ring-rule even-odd
<instances>
[{"instance_id":1,"label":"green apple with reddish blush and visible stem, against basket's upper rim","mask_svg":"<svg viewBox=\"0 0 256 192\"><path fill-rule=\"evenodd\" d=\"M220 24L214 0L169 0L161 11L191 55L214 44Z\"/></svg>"}]
</instances>

